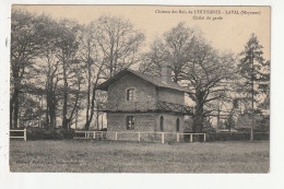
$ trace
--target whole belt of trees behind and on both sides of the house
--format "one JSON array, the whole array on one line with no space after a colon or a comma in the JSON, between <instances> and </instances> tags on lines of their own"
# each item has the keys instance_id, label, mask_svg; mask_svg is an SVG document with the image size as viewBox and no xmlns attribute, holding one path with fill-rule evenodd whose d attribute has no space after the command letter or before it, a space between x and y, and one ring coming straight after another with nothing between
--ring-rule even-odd
<instances>
[{"instance_id":1,"label":"whole belt of trees behind and on both sides of the house","mask_svg":"<svg viewBox=\"0 0 284 189\"><path fill-rule=\"evenodd\" d=\"M88 25L72 20L55 20L24 10L12 10L10 122L69 129L84 117L85 129L98 123L97 109L106 94L97 85L135 63L140 71L161 75L170 66L174 82L186 86L193 102L193 131L211 125L208 116L222 101L241 108L269 109L270 61L255 34L239 55L221 52L196 29L178 23L157 37L141 54L145 36L129 20L100 16ZM255 84L252 87L252 83ZM31 108L33 106L34 108ZM247 109L251 111L251 109ZM251 111L255 113L255 111ZM234 123L233 113L226 125ZM95 121L94 121L95 120ZM61 122L61 123L59 123Z\"/></svg>"}]
</instances>

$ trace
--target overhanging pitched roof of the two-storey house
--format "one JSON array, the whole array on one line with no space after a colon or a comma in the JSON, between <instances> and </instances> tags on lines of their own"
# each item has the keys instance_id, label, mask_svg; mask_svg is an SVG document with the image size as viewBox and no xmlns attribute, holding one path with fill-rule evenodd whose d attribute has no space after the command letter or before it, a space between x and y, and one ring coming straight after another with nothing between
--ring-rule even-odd
<instances>
[{"instance_id":1,"label":"overhanging pitched roof of the two-storey house","mask_svg":"<svg viewBox=\"0 0 284 189\"><path fill-rule=\"evenodd\" d=\"M168 82L168 83L163 83L161 81L161 78L158 76L153 76L153 75L149 75L149 74L144 74L131 69L125 69L121 70L120 72L118 72L117 74L115 74L113 78L108 79L107 81L105 81L104 83L99 84L97 86L98 90L103 90L103 91L107 91L108 86L116 82L117 80L119 80L121 76L128 74L128 73L132 73L139 78L141 78L142 80L147 81L149 83L154 84L155 86L158 87L165 87L165 88L171 88L171 90L176 90L176 91L181 91L181 92L189 92L187 88L180 86L179 84L175 83L175 82Z\"/></svg>"}]
</instances>

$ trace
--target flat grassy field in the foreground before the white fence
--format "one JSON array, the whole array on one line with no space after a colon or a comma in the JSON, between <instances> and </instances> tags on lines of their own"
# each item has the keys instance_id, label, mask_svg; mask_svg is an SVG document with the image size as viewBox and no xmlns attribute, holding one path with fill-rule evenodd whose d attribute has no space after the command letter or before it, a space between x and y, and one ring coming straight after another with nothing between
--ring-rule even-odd
<instances>
[{"instance_id":1,"label":"flat grassy field in the foreground before the white fence","mask_svg":"<svg viewBox=\"0 0 284 189\"><path fill-rule=\"evenodd\" d=\"M11 141L10 170L28 173L268 173L269 142Z\"/></svg>"}]
</instances>

